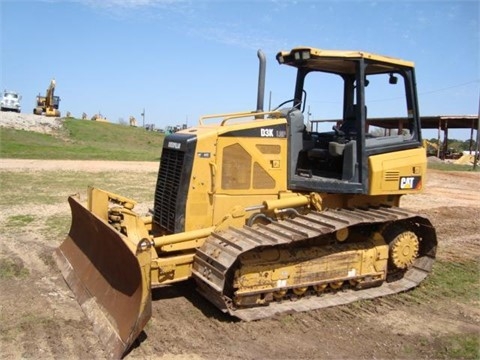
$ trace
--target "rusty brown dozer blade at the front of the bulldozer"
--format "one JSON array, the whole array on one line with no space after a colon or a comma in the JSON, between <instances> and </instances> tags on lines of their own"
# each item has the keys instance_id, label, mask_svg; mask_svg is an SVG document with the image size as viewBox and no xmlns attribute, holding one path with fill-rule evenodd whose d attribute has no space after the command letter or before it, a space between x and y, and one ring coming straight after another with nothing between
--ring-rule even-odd
<instances>
[{"instance_id":1,"label":"rusty brown dozer blade at the front of the bulldozer","mask_svg":"<svg viewBox=\"0 0 480 360\"><path fill-rule=\"evenodd\" d=\"M150 252L68 199L72 225L54 258L110 358L121 358L151 317Z\"/></svg>"}]
</instances>

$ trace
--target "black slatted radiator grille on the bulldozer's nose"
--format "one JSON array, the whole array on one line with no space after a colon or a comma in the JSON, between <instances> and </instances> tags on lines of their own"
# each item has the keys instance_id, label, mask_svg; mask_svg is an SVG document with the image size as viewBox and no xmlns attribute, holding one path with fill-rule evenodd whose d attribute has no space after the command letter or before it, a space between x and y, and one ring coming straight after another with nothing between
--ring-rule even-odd
<instances>
[{"instance_id":1,"label":"black slatted radiator grille on the bulldozer's nose","mask_svg":"<svg viewBox=\"0 0 480 360\"><path fill-rule=\"evenodd\" d=\"M184 198L179 194L185 153L164 148L155 191L153 219L170 233L175 232L177 202Z\"/></svg>"}]
</instances>

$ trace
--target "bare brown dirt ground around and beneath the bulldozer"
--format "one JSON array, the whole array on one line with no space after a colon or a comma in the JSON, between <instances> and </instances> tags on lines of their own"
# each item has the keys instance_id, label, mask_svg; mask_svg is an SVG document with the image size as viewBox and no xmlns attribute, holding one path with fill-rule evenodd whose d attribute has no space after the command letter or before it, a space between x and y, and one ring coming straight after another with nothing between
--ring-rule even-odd
<instances>
[{"instance_id":1,"label":"bare brown dirt ground around and beneath the bulldozer","mask_svg":"<svg viewBox=\"0 0 480 360\"><path fill-rule=\"evenodd\" d=\"M95 173L96 166L142 172L156 171L158 164L0 159L2 172ZM425 192L405 196L402 205L427 215L437 228L439 261L478 264L480 173L429 170ZM0 259L28 275L0 278L0 359L105 357L53 262L59 243L2 230ZM152 319L127 359L431 359L444 350L445 337L480 334L478 297L411 298L416 301L393 295L246 323L222 314L186 282L154 290Z\"/></svg>"}]
</instances>

